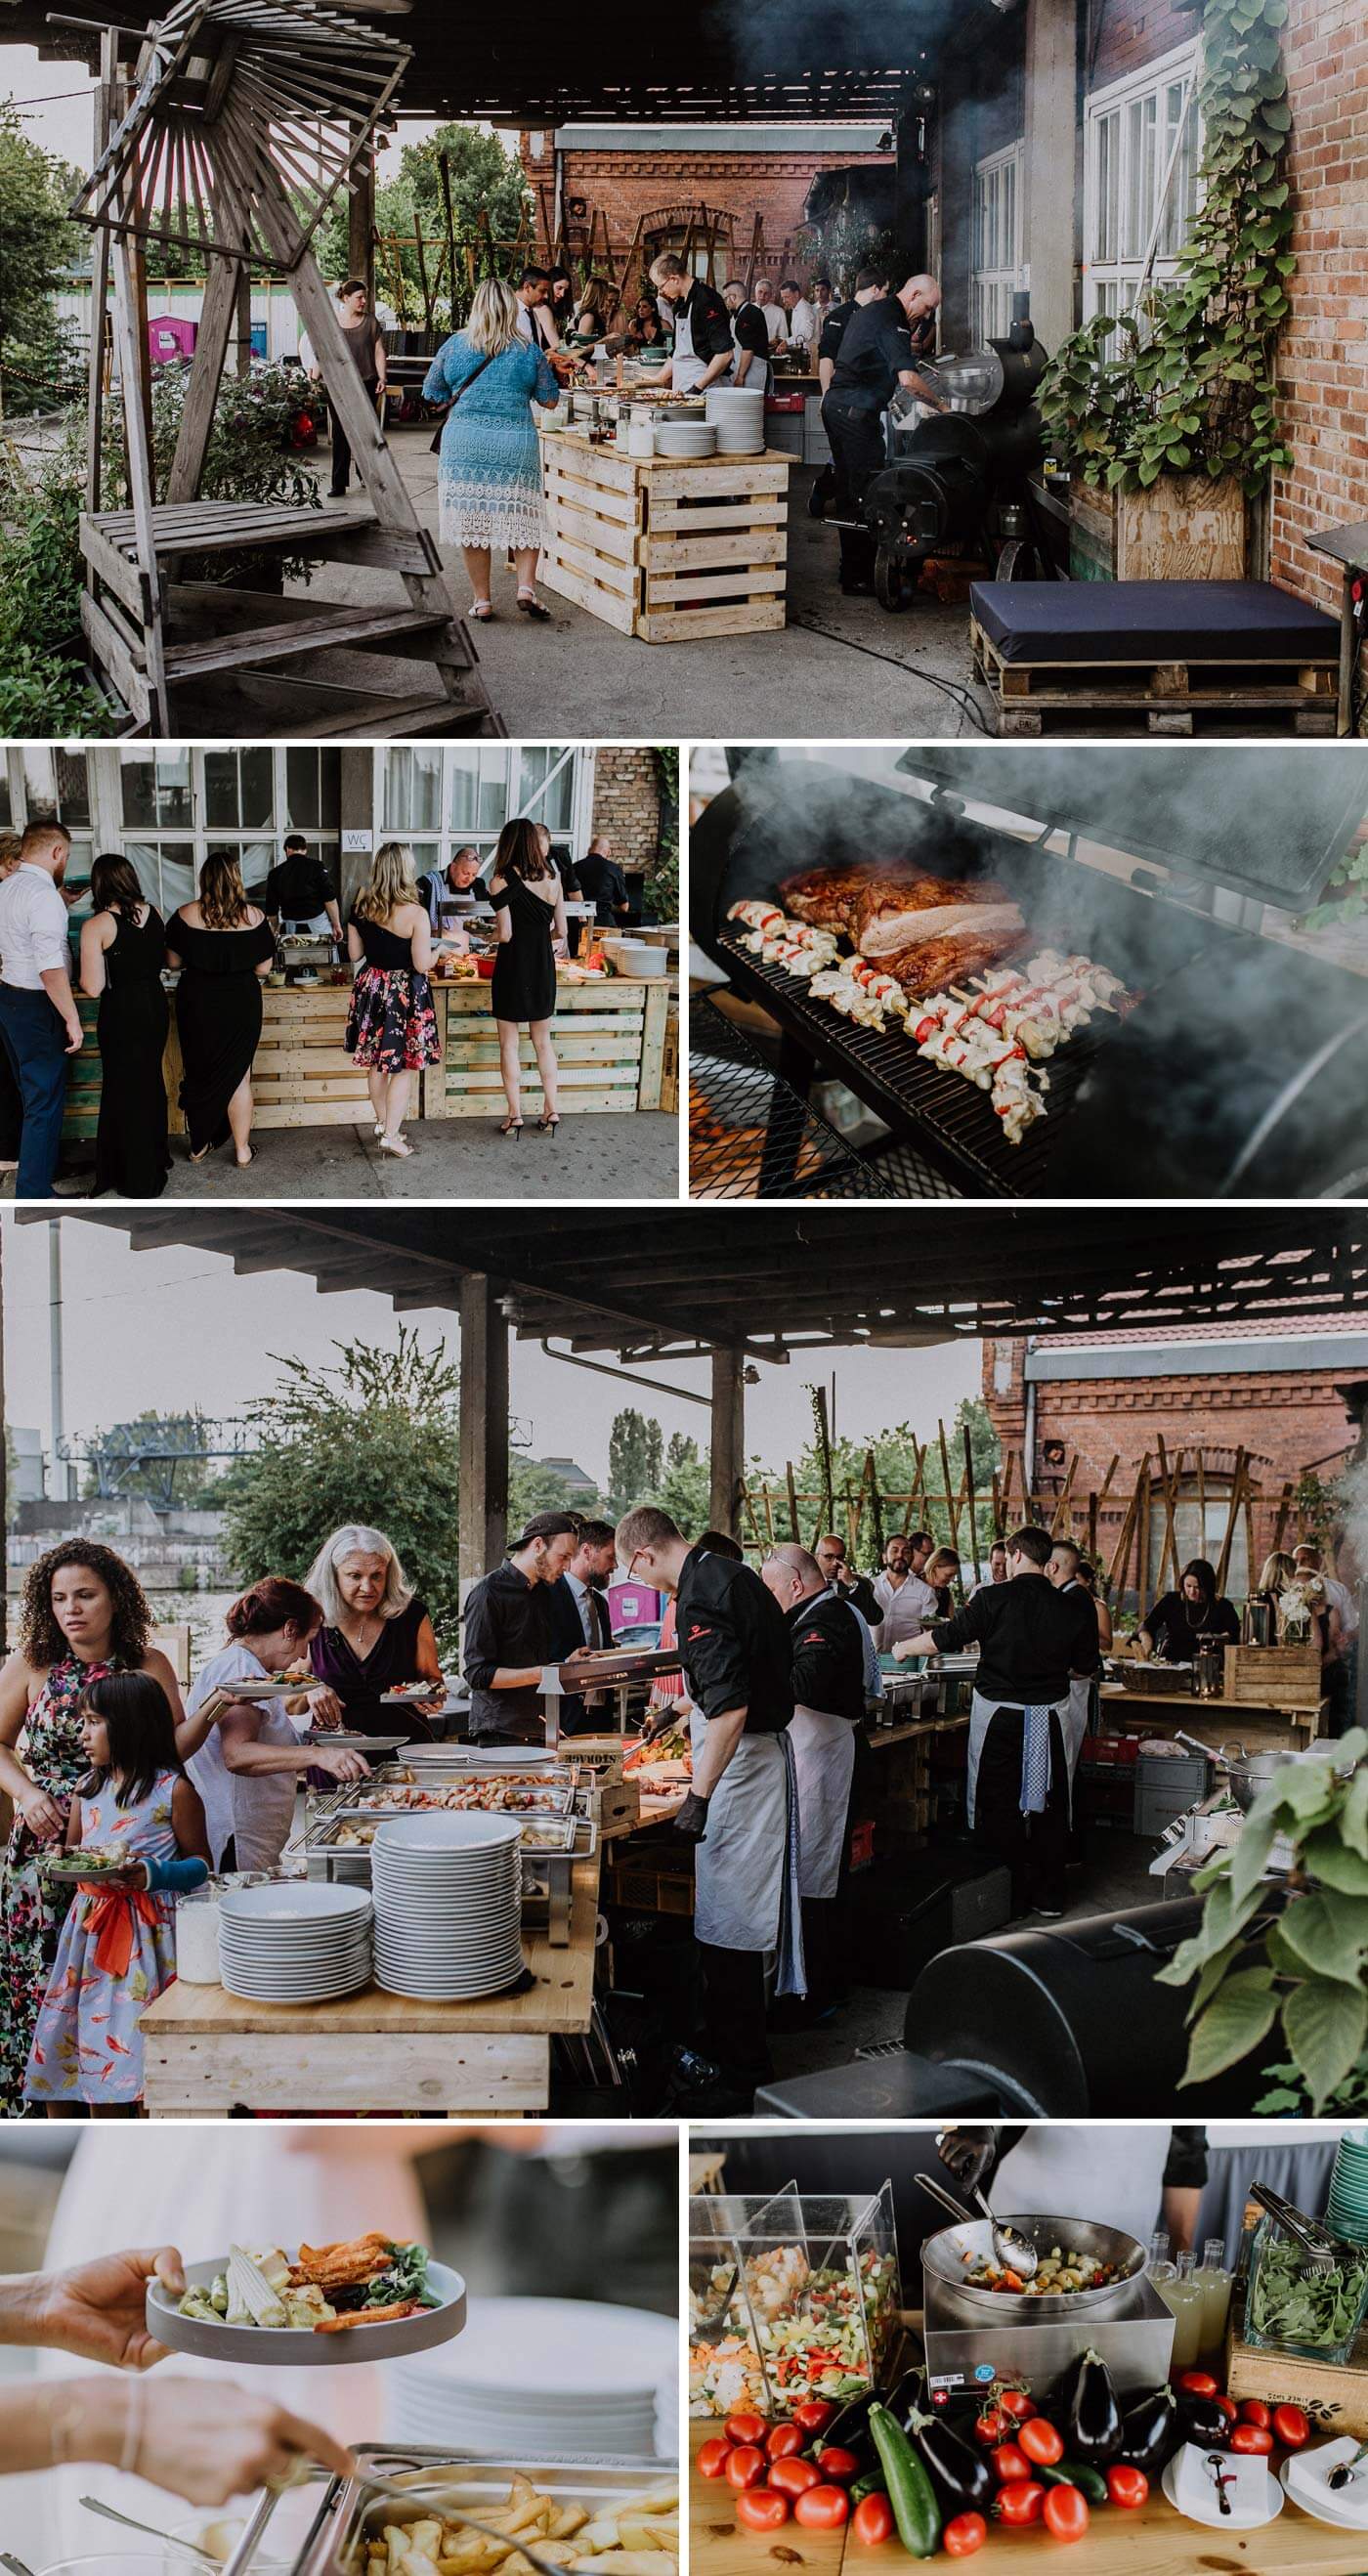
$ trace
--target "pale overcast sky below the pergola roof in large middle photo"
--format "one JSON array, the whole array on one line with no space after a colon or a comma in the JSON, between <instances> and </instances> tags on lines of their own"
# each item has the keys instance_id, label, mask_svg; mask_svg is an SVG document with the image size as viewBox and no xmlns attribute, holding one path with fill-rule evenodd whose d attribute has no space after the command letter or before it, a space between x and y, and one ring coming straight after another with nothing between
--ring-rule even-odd
<instances>
[{"instance_id":1,"label":"pale overcast sky below the pergola roof in large middle photo","mask_svg":"<svg viewBox=\"0 0 1368 2576\"><path fill-rule=\"evenodd\" d=\"M649 1213L644 1216L649 1224ZM5 1386L8 1414L49 1440L49 1226L0 1218L5 1255ZM62 1224L64 1409L67 1437L124 1422L155 1404L206 1414L242 1412L276 1381L268 1352L322 1368L332 1342L394 1342L389 1298L358 1291L319 1296L289 1273L234 1278L232 1260L198 1252L129 1252L121 1234ZM407 1316L433 1347L443 1334L456 1352L456 1319L443 1311ZM812 1432L809 1383L835 1373L837 1435L868 1437L909 1419L922 1435L935 1417L951 1422L961 1396L979 1391L979 1342L912 1352L819 1352L788 1368L760 1368L747 1388L747 1450L781 1468ZM662 1368L675 1386L706 1394L701 1363ZM536 1342L513 1345L513 1412L533 1458L572 1455L603 1481L608 1427L618 1406L639 1401L665 1432L706 1440L708 1417L696 1404L595 1378L549 1360Z\"/></svg>"}]
</instances>

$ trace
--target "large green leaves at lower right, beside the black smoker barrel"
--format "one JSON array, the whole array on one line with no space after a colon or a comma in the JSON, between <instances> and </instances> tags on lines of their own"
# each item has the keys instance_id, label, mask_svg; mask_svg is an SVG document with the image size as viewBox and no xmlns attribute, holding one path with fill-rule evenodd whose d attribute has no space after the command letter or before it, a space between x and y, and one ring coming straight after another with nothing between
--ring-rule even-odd
<instances>
[{"instance_id":1,"label":"large green leaves at lower right, beside the black smoker barrel","mask_svg":"<svg viewBox=\"0 0 1368 2576\"><path fill-rule=\"evenodd\" d=\"M1280 1909L1265 1883L1278 1834L1293 1847ZM1280 2027L1296 2099L1304 2089L1322 2112L1368 2045L1368 1731L1353 1728L1314 1762L1286 1762L1234 1850L1193 1886L1206 1896L1201 1929L1157 1978L1195 1981L1183 2084L1208 2084ZM1260 1942L1262 1960L1252 1958Z\"/></svg>"}]
</instances>

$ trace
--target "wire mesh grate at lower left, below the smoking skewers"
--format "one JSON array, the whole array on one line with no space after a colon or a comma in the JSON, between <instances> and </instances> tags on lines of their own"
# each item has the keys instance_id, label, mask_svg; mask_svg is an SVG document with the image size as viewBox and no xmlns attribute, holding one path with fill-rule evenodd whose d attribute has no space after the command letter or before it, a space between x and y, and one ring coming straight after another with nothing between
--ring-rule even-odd
<instances>
[{"instance_id":1,"label":"wire mesh grate at lower left, below the smoking skewers","mask_svg":"<svg viewBox=\"0 0 1368 2576\"><path fill-rule=\"evenodd\" d=\"M708 1025L711 1023L711 1025ZM891 1198L711 1002L688 1033L690 1198Z\"/></svg>"}]
</instances>

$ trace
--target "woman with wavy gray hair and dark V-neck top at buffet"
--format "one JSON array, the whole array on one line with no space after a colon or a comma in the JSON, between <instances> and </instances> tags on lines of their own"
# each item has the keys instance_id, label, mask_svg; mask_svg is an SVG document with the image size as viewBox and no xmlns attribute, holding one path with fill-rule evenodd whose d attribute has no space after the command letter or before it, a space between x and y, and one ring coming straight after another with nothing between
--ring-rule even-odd
<instances>
[{"instance_id":1,"label":"woman with wavy gray hair and dark V-neck top at buffet","mask_svg":"<svg viewBox=\"0 0 1368 2576\"><path fill-rule=\"evenodd\" d=\"M410 1734L430 1736L428 1716L446 1705L438 1641L384 1530L363 1522L332 1530L309 1566L307 1589L322 1607L322 1628L309 1646L322 1682L309 1695L314 1723L348 1726L361 1736L397 1734L397 1710L384 1705L384 1692L430 1682L430 1692L402 1710Z\"/></svg>"}]
</instances>

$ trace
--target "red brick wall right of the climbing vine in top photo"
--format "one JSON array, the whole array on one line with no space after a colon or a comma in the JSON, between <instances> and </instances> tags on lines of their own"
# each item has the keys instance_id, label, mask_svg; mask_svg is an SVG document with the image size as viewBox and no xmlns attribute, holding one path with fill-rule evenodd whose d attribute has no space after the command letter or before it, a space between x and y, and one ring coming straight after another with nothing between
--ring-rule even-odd
<instances>
[{"instance_id":1,"label":"red brick wall right of the climbing vine in top photo","mask_svg":"<svg viewBox=\"0 0 1368 2576\"><path fill-rule=\"evenodd\" d=\"M1363 0L1293 0L1283 31L1296 204L1278 376L1296 451L1273 487L1273 580L1340 605L1306 536L1368 515L1368 23Z\"/></svg>"}]
</instances>

